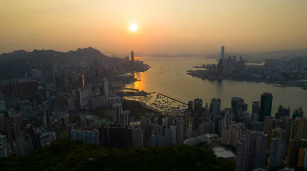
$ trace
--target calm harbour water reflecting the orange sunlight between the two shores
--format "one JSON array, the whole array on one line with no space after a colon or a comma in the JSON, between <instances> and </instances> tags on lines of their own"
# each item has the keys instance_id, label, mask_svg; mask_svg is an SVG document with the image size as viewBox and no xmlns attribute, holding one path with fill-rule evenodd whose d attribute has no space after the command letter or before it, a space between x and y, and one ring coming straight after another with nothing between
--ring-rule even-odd
<instances>
[{"instance_id":1,"label":"calm harbour water reflecting the orange sunlight between the two shores","mask_svg":"<svg viewBox=\"0 0 307 171\"><path fill-rule=\"evenodd\" d=\"M202 80L186 74L187 70L195 70L194 66L216 63L212 59L202 57L137 57L135 59L144 61L151 68L146 72L135 73L135 78L141 81L127 84L127 88L165 94L185 103L201 98L205 104L210 103L213 97L220 98L222 109L230 108L232 97L241 97L248 104L249 111L253 101L260 101L260 95L263 92L270 92L273 95L273 116L279 105L289 106L291 115L295 108L301 105L303 105L302 108L307 107L307 91L299 87L273 87L274 84L265 82Z\"/></svg>"}]
</instances>

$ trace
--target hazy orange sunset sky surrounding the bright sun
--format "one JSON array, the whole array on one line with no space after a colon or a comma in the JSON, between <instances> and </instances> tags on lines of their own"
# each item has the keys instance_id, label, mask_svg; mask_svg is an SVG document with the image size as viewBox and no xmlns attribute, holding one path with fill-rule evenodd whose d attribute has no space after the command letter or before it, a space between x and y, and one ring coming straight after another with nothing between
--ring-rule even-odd
<instances>
[{"instance_id":1,"label":"hazy orange sunset sky surrounding the bright sun","mask_svg":"<svg viewBox=\"0 0 307 171\"><path fill-rule=\"evenodd\" d=\"M0 53L262 52L307 47L306 0L0 0ZM131 33L130 23L139 30Z\"/></svg>"}]
</instances>

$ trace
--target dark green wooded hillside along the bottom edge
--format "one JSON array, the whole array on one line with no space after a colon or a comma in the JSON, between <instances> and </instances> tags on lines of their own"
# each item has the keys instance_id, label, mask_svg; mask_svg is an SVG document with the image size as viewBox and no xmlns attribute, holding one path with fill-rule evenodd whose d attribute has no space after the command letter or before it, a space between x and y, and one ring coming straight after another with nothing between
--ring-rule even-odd
<instances>
[{"instance_id":1,"label":"dark green wooded hillside along the bottom edge","mask_svg":"<svg viewBox=\"0 0 307 171\"><path fill-rule=\"evenodd\" d=\"M209 149L180 145L163 148L106 149L67 138L34 153L0 159L0 170L215 170L233 171L235 163Z\"/></svg>"}]
</instances>

